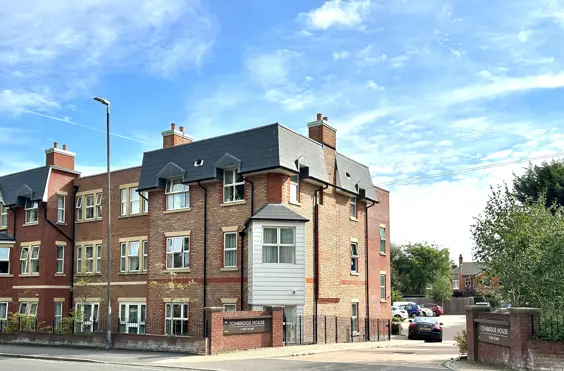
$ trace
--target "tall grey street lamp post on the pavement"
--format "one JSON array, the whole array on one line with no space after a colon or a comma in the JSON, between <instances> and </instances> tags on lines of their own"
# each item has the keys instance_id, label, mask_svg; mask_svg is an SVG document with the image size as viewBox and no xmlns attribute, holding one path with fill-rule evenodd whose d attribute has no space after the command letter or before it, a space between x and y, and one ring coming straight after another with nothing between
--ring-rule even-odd
<instances>
[{"instance_id":1,"label":"tall grey street lamp post on the pavement","mask_svg":"<svg viewBox=\"0 0 564 371\"><path fill-rule=\"evenodd\" d=\"M112 322L111 322L111 312L112 306L110 303L110 280L111 280L111 246L112 246L112 224L110 220L110 209L111 209L111 188L110 188L110 101L105 98L95 97L95 101L102 103L106 106L106 167L108 172L108 192L106 198L108 200L108 243L106 246L108 263L106 270L106 349L110 350L112 348Z\"/></svg>"}]
</instances>

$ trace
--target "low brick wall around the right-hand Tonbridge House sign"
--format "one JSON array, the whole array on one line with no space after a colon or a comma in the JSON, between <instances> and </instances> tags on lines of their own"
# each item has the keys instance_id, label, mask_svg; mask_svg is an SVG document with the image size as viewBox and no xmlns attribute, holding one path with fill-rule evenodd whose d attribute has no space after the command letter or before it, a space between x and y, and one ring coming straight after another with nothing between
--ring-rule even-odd
<instances>
[{"instance_id":1,"label":"low brick wall around the right-hand Tonbridge House sign","mask_svg":"<svg viewBox=\"0 0 564 371\"><path fill-rule=\"evenodd\" d=\"M507 323L507 345L492 344L478 338L480 324ZM490 308L472 305L466 308L468 360L501 365L513 370L564 370L564 342L533 339L540 326L540 310L511 308L507 314L491 313Z\"/></svg>"}]
</instances>

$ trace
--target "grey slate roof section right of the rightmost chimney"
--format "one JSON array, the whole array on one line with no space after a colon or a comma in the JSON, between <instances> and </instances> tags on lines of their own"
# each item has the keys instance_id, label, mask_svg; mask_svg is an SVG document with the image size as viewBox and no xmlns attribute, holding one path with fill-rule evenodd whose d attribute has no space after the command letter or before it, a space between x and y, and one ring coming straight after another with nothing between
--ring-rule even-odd
<instances>
[{"instance_id":1,"label":"grey slate roof section right of the rightmost chimney","mask_svg":"<svg viewBox=\"0 0 564 371\"><path fill-rule=\"evenodd\" d=\"M366 192L370 201L378 201L372 183L372 176L367 166L364 166L337 152L337 186L349 192L359 194L360 189Z\"/></svg>"}]
</instances>

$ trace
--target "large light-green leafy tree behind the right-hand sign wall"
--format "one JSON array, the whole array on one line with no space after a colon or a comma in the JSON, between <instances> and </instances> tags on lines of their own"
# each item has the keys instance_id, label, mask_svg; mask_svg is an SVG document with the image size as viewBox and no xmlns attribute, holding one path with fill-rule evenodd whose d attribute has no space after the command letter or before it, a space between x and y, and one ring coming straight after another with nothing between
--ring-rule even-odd
<instances>
[{"instance_id":1,"label":"large light-green leafy tree behind the right-hand sign wall","mask_svg":"<svg viewBox=\"0 0 564 371\"><path fill-rule=\"evenodd\" d=\"M501 281L514 306L564 304L564 213L545 197L522 203L507 185L491 189L471 227L474 258Z\"/></svg>"}]
</instances>

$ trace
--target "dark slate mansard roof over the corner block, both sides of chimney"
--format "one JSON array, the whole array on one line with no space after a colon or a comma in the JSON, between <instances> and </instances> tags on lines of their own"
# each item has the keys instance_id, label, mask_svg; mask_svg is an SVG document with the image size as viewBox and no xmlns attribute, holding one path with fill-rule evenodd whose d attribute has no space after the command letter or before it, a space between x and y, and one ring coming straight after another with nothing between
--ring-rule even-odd
<instances>
[{"instance_id":1,"label":"dark slate mansard roof over the corner block, both sides of chimney","mask_svg":"<svg viewBox=\"0 0 564 371\"><path fill-rule=\"evenodd\" d=\"M196 162L201 165L196 166ZM298 172L307 166L310 178L329 183L323 146L276 123L145 152L139 190L163 188L163 174L184 172L184 183L218 179L218 167L228 164L235 165L242 175L274 168ZM337 186L358 194L354 186L360 181L366 197L377 201L368 167L341 154L337 154L337 166L351 175L350 180L342 180Z\"/></svg>"}]
</instances>

